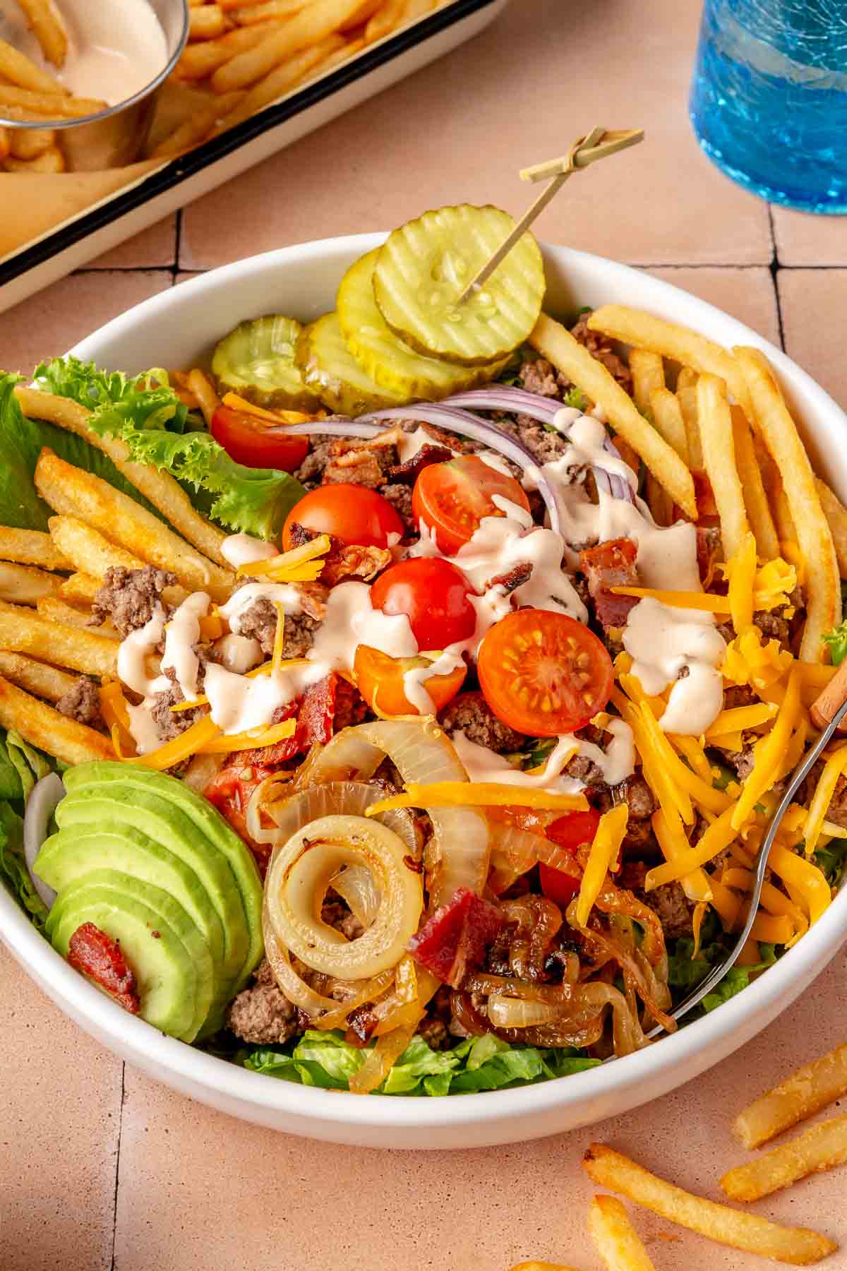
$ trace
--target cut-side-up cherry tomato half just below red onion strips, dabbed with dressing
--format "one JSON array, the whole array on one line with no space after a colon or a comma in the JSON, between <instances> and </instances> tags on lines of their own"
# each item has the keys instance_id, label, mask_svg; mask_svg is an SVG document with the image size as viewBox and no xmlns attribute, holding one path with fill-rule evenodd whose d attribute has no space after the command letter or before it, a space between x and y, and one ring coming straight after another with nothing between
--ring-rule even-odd
<instances>
[{"instance_id":1,"label":"cut-side-up cherry tomato half just below red onion strips, dabbed with dressing","mask_svg":"<svg viewBox=\"0 0 847 1271\"><path fill-rule=\"evenodd\" d=\"M438 549L452 555L474 536L484 516L505 515L494 502L495 494L530 511L530 501L514 477L476 455L460 455L423 469L411 492L411 511L415 520L434 531Z\"/></svg>"}]
</instances>

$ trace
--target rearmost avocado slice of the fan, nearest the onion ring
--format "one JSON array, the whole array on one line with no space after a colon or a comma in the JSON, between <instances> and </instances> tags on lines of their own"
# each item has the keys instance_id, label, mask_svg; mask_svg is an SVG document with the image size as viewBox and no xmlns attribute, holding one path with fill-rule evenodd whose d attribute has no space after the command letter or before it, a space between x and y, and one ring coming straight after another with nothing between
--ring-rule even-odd
<instances>
[{"instance_id":1,"label":"rearmost avocado slice of the fan, nearest the onion ring","mask_svg":"<svg viewBox=\"0 0 847 1271\"><path fill-rule=\"evenodd\" d=\"M232 988L232 995L235 995L246 984L264 952L262 880L246 844L208 799L196 794L175 777L154 773L135 764L98 760L70 768L62 779L70 796L80 792L84 793L85 798L93 798L102 796L108 789L109 792L114 791L114 796L109 793L109 797L121 798L130 807L140 794L155 794L170 807L180 811L192 822L193 835L201 838L210 853L215 850L223 857L241 901L243 921L246 925L248 937L244 965Z\"/></svg>"}]
</instances>

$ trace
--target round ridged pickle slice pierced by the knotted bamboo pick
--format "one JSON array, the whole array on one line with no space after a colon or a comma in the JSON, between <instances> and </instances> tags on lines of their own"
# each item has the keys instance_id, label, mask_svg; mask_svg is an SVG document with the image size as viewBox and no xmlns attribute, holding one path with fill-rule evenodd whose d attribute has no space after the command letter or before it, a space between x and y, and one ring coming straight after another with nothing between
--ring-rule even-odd
<instances>
[{"instance_id":1,"label":"round ridged pickle slice pierced by the knotted bamboo pick","mask_svg":"<svg viewBox=\"0 0 847 1271\"><path fill-rule=\"evenodd\" d=\"M505 357L535 327L545 294L544 261L524 234L491 277L458 304L514 229L498 207L441 207L401 225L380 248L373 294L395 336L429 357L476 366Z\"/></svg>"}]
</instances>

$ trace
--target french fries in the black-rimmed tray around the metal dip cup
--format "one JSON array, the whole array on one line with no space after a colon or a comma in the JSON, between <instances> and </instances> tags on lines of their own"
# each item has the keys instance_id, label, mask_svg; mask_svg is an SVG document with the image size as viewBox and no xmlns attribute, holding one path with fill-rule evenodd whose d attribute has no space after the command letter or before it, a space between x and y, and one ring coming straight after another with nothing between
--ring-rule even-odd
<instances>
[{"instance_id":1,"label":"french fries in the black-rimmed tray around the metal dip cup","mask_svg":"<svg viewBox=\"0 0 847 1271\"><path fill-rule=\"evenodd\" d=\"M17 0L46 61L61 70L67 38L47 0ZM168 159L218 136L309 80L451 0L189 0L188 44L170 76L182 89L154 122L145 158ZM0 118L81 118L105 102L74 97L0 41ZM65 172L61 131L4 128L0 169Z\"/></svg>"}]
</instances>

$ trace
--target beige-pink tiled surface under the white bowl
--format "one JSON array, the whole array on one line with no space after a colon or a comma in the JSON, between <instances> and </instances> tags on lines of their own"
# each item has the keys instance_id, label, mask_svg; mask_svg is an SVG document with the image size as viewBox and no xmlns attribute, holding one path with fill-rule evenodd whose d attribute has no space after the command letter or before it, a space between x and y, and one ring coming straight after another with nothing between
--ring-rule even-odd
<instances>
[{"instance_id":1,"label":"beige-pink tiled surface under the white bowl","mask_svg":"<svg viewBox=\"0 0 847 1271\"><path fill-rule=\"evenodd\" d=\"M0 365L29 367L206 268L300 239L397 222L447 200L527 198L514 173L597 119L650 145L577 178L540 225L650 271L778 342L767 208L711 169L684 117L697 5L513 0L474 46L307 139L183 216L0 316ZM784 266L847 264L847 221L775 210ZM156 268L159 267L159 268ZM128 269L131 272L121 272ZM842 402L847 269L778 272L787 351ZM386 1155L287 1139L190 1103L85 1038L0 953L3 1271L505 1271L522 1258L599 1271L579 1159L592 1134L717 1196L728 1120L753 1091L843 1041L847 957L717 1070L594 1131L456 1154ZM843 1108L842 1108L843 1111ZM119 1166L117 1157L121 1126ZM847 1248L844 1174L757 1206ZM116 1202L117 1183L117 1202ZM114 1216L114 1224L113 1224ZM658 1271L752 1271L636 1215ZM114 1242L114 1248L113 1248ZM114 1254L114 1256L113 1256ZM847 1271L847 1253L824 1263Z\"/></svg>"}]
</instances>

